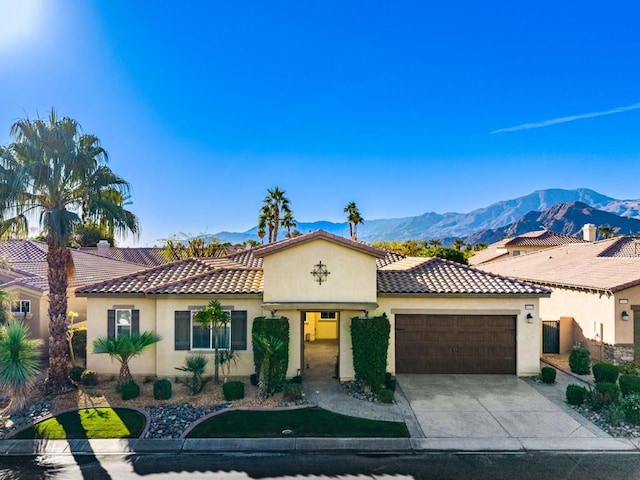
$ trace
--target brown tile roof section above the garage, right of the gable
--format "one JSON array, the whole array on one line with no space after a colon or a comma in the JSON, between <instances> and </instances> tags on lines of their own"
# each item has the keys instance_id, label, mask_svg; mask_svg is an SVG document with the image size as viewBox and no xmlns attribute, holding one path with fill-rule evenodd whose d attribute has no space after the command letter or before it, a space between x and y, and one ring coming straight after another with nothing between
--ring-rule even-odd
<instances>
[{"instance_id":1,"label":"brown tile roof section above the garage, right of the gable","mask_svg":"<svg viewBox=\"0 0 640 480\"><path fill-rule=\"evenodd\" d=\"M421 259L413 268L378 271L379 294L531 295L550 292L526 282L488 274L442 258ZM408 265L406 265L408 266Z\"/></svg>"}]
</instances>

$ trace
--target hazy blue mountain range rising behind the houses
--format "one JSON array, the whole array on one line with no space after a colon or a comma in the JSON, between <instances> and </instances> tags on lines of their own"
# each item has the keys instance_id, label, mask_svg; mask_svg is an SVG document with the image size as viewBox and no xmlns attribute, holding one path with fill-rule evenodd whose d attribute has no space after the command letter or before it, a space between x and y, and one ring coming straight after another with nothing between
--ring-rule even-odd
<instances>
[{"instance_id":1,"label":"hazy blue mountain range rising behind the houses","mask_svg":"<svg viewBox=\"0 0 640 480\"><path fill-rule=\"evenodd\" d=\"M591 220L586 220L589 218ZM629 222L630 219L636 220ZM584 223L608 224L618 228L619 233L631 234L640 232L640 220L637 219L640 219L640 199L618 200L587 188L547 189L496 202L469 213L426 212L415 217L365 219L364 224L358 225L358 240L463 238L469 243L493 243L506 235L540 230L541 227L574 235ZM347 222L300 222L297 228L303 233L323 229L349 236ZM256 231L254 227L246 232L219 232L212 236L223 242L242 243L258 239Z\"/></svg>"}]
</instances>

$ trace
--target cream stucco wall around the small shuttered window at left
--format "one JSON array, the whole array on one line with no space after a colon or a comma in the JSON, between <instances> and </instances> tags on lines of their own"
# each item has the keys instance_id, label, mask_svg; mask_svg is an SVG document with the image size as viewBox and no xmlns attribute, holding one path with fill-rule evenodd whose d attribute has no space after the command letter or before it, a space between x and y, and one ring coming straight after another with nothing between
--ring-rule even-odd
<instances>
[{"instance_id":1,"label":"cream stucco wall around the small shuttered window at left","mask_svg":"<svg viewBox=\"0 0 640 480\"><path fill-rule=\"evenodd\" d=\"M87 299L87 368L101 374L117 374L120 364L110 360L108 355L91 353L93 340L107 336L107 310L113 308L131 308L140 310L140 331L156 331L156 302L154 299L132 298L88 298ZM173 324L173 320L172 320ZM158 332L160 333L160 332ZM173 336L163 336L156 345L131 360L129 368L134 375L156 373L156 351L166 351L168 344L173 348Z\"/></svg>"}]
</instances>

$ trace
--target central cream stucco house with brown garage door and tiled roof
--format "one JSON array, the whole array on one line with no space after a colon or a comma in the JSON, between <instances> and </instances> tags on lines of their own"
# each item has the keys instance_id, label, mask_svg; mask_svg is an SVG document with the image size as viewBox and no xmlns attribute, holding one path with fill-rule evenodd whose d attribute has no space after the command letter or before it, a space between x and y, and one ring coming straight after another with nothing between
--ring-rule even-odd
<instances>
[{"instance_id":1,"label":"central cream stucco house with brown garage door and tiled roof","mask_svg":"<svg viewBox=\"0 0 640 480\"><path fill-rule=\"evenodd\" d=\"M385 313L388 369L397 373L539 371L538 302L545 288L439 258L403 257L317 231L225 258L186 259L76 290L86 298L88 341L155 331L162 340L132 363L136 374L174 376L190 352L212 354L193 315L212 299L231 313L223 348L238 353L233 374L254 372L253 319L289 319L288 376L306 366L304 344L333 340L339 377L354 377L350 325ZM87 367L118 366L89 354Z\"/></svg>"}]
</instances>

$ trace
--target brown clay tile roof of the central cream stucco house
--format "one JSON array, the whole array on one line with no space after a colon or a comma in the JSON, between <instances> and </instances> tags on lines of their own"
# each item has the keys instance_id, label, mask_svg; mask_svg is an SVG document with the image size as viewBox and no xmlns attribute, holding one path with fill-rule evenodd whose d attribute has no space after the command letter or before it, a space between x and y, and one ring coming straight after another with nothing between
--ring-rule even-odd
<instances>
[{"instance_id":1,"label":"brown clay tile roof of the central cream stucco house","mask_svg":"<svg viewBox=\"0 0 640 480\"><path fill-rule=\"evenodd\" d=\"M313 238L321 236L315 233L309 235L313 235ZM247 250L224 258L180 260L86 285L76 289L76 294L80 296L259 295L264 290L264 284L262 258L254 255L256 250ZM379 268L379 293L469 295L545 295L547 293L544 288L491 275L447 260L404 257L386 251L384 254L376 259Z\"/></svg>"}]
</instances>

